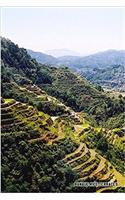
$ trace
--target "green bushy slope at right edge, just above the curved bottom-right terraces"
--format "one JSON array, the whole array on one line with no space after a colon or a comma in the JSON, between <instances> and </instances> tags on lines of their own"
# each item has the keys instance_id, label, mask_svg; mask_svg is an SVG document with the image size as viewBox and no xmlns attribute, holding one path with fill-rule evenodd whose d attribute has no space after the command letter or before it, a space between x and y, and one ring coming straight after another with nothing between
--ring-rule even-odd
<instances>
[{"instance_id":1,"label":"green bushy slope at right edge, just above the curved bottom-right terraces","mask_svg":"<svg viewBox=\"0 0 125 200\"><path fill-rule=\"evenodd\" d=\"M122 132L122 130L119 129L118 132ZM90 148L96 147L124 175L124 134L119 137L114 130L90 129L84 134L84 141L87 142Z\"/></svg>"}]
</instances>

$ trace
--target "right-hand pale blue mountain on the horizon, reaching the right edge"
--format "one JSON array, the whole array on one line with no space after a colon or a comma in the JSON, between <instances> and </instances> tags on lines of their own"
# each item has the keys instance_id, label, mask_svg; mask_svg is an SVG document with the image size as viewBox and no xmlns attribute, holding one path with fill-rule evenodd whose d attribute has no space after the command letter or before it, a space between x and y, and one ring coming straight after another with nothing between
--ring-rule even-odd
<instances>
[{"instance_id":1,"label":"right-hand pale blue mountain on the horizon, reaching the right edge","mask_svg":"<svg viewBox=\"0 0 125 200\"><path fill-rule=\"evenodd\" d=\"M78 57L77 59L69 59L69 67L76 70L86 70L87 67L92 68L105 68L111 65L123 65L125 50L108 50L100 53L96 53L90 56ZM67 57L63 57L62 64L67 60Z\"/></svg>"}]
</instances>

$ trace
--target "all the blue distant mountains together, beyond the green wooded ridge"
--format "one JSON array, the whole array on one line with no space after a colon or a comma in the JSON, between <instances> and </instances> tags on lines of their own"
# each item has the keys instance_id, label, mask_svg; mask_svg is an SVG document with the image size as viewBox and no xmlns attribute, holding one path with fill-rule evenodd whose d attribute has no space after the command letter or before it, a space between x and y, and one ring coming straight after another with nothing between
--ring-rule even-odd
<instances>
[{"instance_id":1,"label":"all the blue distant mountains together, beyond the green wooded ridge","mask_svg":"<svg viewBox=\"0 0 125 200\"><path fill-rule=\"evenodd\" d=\"M93 83L125 91L125 50L108 50L84 57L67 55L58 58L31 50L28 50L28 53L42 64L67 66Z\"/></svg>"}]
</instances>

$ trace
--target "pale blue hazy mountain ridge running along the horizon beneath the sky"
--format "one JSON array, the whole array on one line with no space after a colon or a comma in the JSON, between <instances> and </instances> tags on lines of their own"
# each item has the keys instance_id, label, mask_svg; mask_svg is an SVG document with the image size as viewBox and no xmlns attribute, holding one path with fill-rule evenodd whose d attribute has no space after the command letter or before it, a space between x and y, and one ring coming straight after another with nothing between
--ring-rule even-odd
<instances>
[{"instance_id":1,"label":"pale blue hazy mountain ridge running along the horizon beneath the sky","mask_svg":"<svg viewBox=\"0 0 125 200\"><path fill-rule=\"evenodd\" d=\"M42 64L66 65L76 71L84 71L89 67L105 68L111 65L123 65L125 63L125 50L108 50L84 57L65 55L58 58L42 52L27 51L31 57Z\"/></svg>"}]
</instances>

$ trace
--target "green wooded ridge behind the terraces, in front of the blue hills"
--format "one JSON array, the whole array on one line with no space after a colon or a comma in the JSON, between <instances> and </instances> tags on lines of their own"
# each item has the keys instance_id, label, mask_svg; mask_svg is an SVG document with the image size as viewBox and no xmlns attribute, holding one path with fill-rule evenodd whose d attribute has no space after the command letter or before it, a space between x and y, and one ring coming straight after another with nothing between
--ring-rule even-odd
<instances>
[{"instance_id":1,"label":"green wooded ridge behind the terraces, in front of the blue hills","mask_svg":"<svg viewBox=\"0 0 125 200\"><path fill-rule=\"evenodd\" d=\"M123 97L110 97L101 87L95 87L67 68L54 69L51 77L52 84L42 85L48 94L54 95L77 112L87 112L97 124L107 124L109 119L115 117L114 127L124 126Z\"/></svg>"}]
</instances>

